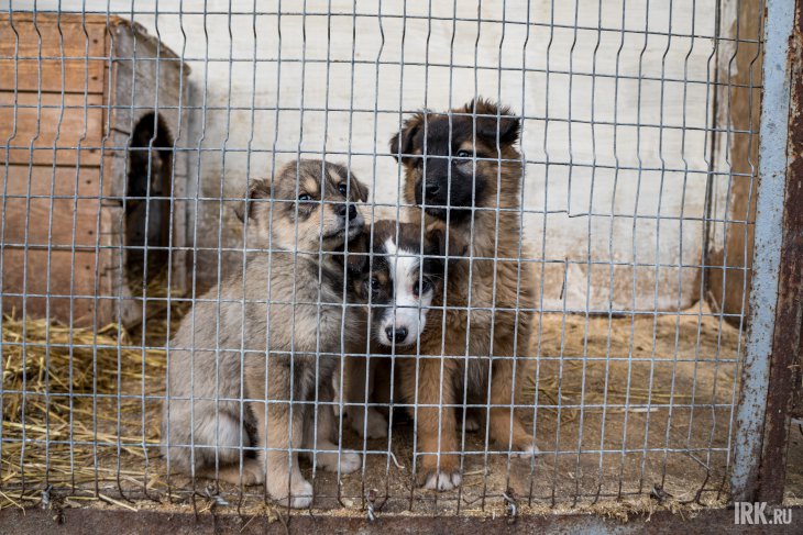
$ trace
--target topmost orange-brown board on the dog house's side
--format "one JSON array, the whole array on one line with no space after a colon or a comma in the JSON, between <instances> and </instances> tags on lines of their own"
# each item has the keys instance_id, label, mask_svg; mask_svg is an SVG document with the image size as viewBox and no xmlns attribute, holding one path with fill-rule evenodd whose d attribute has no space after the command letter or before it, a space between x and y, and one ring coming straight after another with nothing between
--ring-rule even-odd
<instances>
[{"instance_id":1,"label":"topmost orange-brown board on the dog house's side","mask_svg":"<svg viewBox=\"0 0 803 535\"><path fill-rule=\"evenodd\" d=\"M1 14L0 90L102 93L106 35L98 18Z\"/></svg>"}]
</instances>

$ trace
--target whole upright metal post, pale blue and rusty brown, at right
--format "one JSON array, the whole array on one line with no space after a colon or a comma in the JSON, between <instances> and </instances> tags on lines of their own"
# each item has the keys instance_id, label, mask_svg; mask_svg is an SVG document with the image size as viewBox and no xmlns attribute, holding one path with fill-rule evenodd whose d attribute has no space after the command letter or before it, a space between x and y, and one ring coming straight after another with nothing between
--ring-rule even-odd
<instances>
[{"instance_id":1,"label":"whole upright metal post, pale blue and rusty brown, at right","mask_svg":"<svg viewBox=\"0 0 803 535\"><path fill-rule=\"evenodd\" d=\"M803 1L767 0L766 9L750 322L730 483L734 501L779 503L796 375L790 367L801 339L803 163L798 156L803 147Z\"/></svg>"}]
</instances>

